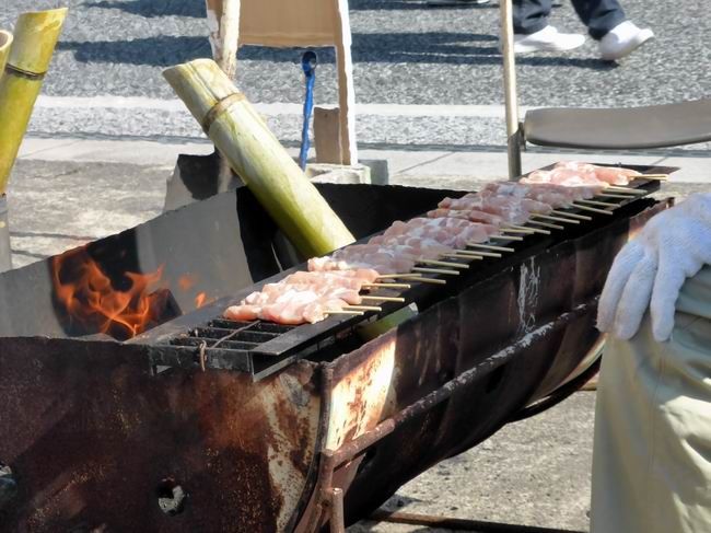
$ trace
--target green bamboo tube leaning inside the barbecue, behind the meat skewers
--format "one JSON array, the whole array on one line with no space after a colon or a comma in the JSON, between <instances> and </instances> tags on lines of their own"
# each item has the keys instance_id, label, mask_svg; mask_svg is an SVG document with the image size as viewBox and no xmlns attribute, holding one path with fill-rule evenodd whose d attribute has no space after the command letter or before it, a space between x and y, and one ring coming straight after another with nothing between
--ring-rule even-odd
<instances>
[{"instance_id":1,"label":"green bamboo tube leaning inside the barbecue, behind the meat skewers","mask_svg":"<svg viewBox=\"0 0 711 533\"><path fill-rule=\"evenodd\" d=\"M214 61L197 59L163 76L299 252L324 255L354 241Z\"/></svg>"}]
</instances>

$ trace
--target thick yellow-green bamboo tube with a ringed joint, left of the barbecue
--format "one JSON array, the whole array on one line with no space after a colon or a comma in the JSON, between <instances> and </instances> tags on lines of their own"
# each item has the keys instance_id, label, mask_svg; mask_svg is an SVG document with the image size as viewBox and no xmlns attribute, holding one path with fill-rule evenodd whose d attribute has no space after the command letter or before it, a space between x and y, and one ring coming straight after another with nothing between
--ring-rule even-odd
<instances>
[{"instance_id":1,"label":"thick yellow-green bamboo tube with a ringed joint, left of the barbecue","mask_svg":"<svg viewBox=\"0 0 711 533\"><path fill-rule=\"evenodd\" d=\"M23 13L0 79L0 195L27 130L44 74L55 51L67 9Z\"/></svg>"}]
</instances>

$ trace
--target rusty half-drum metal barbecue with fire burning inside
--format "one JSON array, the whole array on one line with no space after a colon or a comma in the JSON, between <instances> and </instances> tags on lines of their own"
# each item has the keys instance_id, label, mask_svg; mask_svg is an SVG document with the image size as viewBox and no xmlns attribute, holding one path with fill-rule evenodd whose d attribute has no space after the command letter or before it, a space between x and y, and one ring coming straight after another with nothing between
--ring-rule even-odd
<instances>
[{"instance_id":1,"label":"rusty half-drum metal barbecue with fire burning inside","mask_svg":"<svg viewBox=\"0 0 711 533\"><path fill-rule=\"evenodd\" d=\"M361 241L462 194L318 188ZM244 188L0 276L13 302L0 309L0 464L11 471L0 475L18 487L0 494L3 526L313 532L339 505L348 522L366 515L588 375L607 268L664 208L642 195L609 201L613 215L512 241L514 252L456 276L427 274L444 285L376 288L401 299L382 311L300 326L222 318L306 259ZM143 316L147 299L170 303L138 333L116 309ZM366 332L406 308L417 313Z\"/></svg>"}]
</instances>

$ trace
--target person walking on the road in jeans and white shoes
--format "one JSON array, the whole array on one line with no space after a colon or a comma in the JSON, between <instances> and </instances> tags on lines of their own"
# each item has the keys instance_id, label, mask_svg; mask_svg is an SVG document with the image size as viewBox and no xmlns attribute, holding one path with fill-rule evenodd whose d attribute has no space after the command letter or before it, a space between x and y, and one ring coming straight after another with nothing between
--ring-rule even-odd
<instances>
[{"instance_id":1,"label":"person walking on the road in jeans and white shoes","mask_svg":"<svg viewBox=\"0 0 711 533\"><path fill-rule=\"evenodd\" d=\"M598 42L604 60L617 60L654 37L627 20L617 0L572 0L578 16ZM561 33L548 23L552 0L513 0L514 53L564 51L582 46L585 36Z\"/></svg>"}]
</instances>

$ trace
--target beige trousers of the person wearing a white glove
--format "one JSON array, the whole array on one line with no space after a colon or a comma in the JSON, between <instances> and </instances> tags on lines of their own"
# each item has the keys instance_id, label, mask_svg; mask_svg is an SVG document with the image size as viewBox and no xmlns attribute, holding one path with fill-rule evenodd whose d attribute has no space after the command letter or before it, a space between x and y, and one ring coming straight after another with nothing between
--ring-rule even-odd
<instances>
[{"instance_id":1,"label":"beige trousers of the person wearing a white glove","mask_svg":"<svg viewBox=\"0 0 711 533\"><path fill-rule=\"evenodd\" d=\"M649 316L610 339L595 413L591 533L711 532L711 267L688 279L667 343Z\"/></svg>"}]
</instances>

